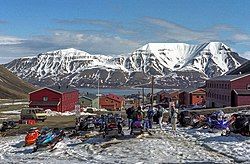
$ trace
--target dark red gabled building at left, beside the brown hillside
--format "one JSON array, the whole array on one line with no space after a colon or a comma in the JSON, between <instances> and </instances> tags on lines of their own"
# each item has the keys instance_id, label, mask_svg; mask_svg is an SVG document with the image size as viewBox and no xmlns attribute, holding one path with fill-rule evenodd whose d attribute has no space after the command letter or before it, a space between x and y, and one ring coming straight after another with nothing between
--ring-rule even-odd
<instances>
[{"instance_id":1,"label":"dark red gabled building at left, beside the brown hillside","mask_svg":"<svg viewBox=\"0 0 250 164\"><path fill-rule=\"evenodd\" d=\"M75 109L79 92L69 87L45 87L29 93L29 97L29 107L40 107L57 112L65 112Z\"/></svg>"}]
</instances>

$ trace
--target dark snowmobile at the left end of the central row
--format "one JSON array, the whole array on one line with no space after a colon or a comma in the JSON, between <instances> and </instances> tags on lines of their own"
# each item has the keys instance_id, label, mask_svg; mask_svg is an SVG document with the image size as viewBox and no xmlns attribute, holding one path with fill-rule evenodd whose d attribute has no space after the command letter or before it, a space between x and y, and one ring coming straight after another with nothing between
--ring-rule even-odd
<instances>
[{"instance_id":1,"label":"dark snowmobile at the left end of the central row","mask_svg":"<svg viewBox=\"0 0 250 164\"><path fill-rule=\"evenodd\" d=\"M86 118L79 118L76 123L76 130L92 131L95 129L95 118L93 116L88 116Z\"/></svg>"}]
</instances>

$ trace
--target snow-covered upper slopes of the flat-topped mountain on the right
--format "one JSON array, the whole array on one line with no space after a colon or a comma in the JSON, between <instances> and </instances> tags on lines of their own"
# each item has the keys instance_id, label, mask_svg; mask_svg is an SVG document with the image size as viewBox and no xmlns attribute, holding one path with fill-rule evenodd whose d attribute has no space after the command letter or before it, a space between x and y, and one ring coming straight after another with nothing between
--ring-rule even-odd
<instances>
[{"instance_id":1,"label":"snow-covered upper slopes of the flat-topped mountain on the right","mask_svg":"<svg viewBox=\"0 0 250 164\"><path fill-rule=\"evenodd\" d=\"M210 42L202 45L185 43L148 43L132 53L126 67L147 72L151 67L164 75L166 70L196 70L208 77L223 74L241 65L235 53L223 43ZM215 68L212 68L215 66ZM168 72L167 72L168 73Z\"/></svg>"}]
</instances>

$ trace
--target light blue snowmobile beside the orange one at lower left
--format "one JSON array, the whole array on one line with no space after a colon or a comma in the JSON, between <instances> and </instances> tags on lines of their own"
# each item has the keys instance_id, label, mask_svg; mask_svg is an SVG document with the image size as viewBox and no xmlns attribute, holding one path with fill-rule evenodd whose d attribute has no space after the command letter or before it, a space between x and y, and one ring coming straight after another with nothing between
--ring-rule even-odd
<instances>
[{"instance_id":1,"label":"light blue snowmobile beside the orange one at lower left","mask_svg":"<svg viewBox=\"0 0 250 164\"><path fill-rule=\"evenodd\" d=\"M36 146L33 149L33 152L37 150L48 150L53 149L55 145L63 140L65 133L63 130L55 128L51 129L42 129L41 135L36 140Z\"/></svg>"}]
</instances>

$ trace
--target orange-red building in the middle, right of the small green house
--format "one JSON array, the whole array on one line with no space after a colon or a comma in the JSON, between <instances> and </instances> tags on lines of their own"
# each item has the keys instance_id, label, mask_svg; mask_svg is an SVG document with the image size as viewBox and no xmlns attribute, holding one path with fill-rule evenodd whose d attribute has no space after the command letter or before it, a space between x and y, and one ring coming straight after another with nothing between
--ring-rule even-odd
<instances>
[{"instance_id":1,"label":"orange-red building in the middle, right of the small green house","mask_svg":"<svg viewBox=\"0 0 250 164\"><path fill-rule=\"evenodd\" d=\"M120 110L124 107L125 100L121 96L108 94L100 97L100 107L108 110Z\"/></svg>"}]
</instances>

